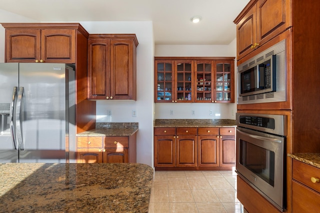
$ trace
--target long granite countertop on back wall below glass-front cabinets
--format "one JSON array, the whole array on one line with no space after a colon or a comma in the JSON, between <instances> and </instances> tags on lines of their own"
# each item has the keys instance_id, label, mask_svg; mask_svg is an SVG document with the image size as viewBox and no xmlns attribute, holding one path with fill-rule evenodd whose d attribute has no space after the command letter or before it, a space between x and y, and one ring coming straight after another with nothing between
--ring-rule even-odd
<instances>
[{"instance_id":1,"label":"long granite countertop on back wall below glass-front cabinets","mask_svg":"<svg viewBox=\"0 0 320 213\"><path fill-rule=\"evenodd\" d=\"M231 119L155 119L154 127L236 127Z\"/></svg>"}]
</instances>

